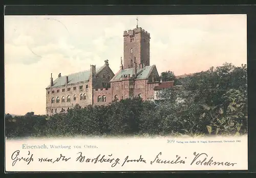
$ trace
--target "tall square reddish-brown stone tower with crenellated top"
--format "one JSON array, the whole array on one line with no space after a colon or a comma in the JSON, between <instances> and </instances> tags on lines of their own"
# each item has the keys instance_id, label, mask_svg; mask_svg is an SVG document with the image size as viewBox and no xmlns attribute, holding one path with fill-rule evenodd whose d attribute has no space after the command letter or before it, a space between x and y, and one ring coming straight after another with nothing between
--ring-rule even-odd
<instances>
[{"instance_id":1,"label":"tall square reddish-brown stone tower with crenellated top","mask_svg":"<svg viewBox=\"0 0 256 178\"><path fill-rule=\"evenodd\" d=\"M150 65L150 33L141 27L123 32L123 68L138 68ZM134 62L135 60L135 62Z\"/></svg>"}]
</instances>

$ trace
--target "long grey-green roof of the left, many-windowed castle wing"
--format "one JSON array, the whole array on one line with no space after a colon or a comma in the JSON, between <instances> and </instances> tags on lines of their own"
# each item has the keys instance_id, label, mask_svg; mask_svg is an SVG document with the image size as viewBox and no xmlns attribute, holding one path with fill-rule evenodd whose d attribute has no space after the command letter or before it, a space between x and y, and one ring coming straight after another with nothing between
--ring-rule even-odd
<instances>
[{"instance_id":1,"label":"long grey-green roof of the left, many-windowed castle wing","mask_svg":"<svg viewBox=\"0 0 256 178\"><path fill-rule=\"evenodd\" d=\"M106 65L96 68L96 74L99 73L105 66ZM61 77L57 78L55 81L53 81L52 87L58 87L61 85L65 85L66 84L66 76L69 77L69 84L75 84L78 82L88 81L89 75L90 75L90 70L84 70L81 72L61 76ZM47 88L50 88L50 85Z\"/></svg>"}]
</instances>

